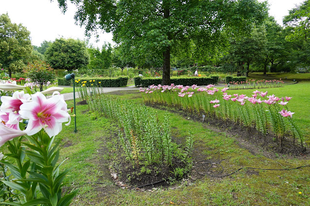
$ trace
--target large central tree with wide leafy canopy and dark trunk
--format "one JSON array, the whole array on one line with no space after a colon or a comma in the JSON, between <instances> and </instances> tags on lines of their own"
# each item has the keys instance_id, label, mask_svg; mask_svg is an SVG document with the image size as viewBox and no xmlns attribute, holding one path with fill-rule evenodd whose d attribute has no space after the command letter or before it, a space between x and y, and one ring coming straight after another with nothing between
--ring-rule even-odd
<instances>
[{"instance_id":1,"label":"large central tree with wide leafy canopy and dark trunk","mask_svg":"<svg viewBox=\"0 0 310 206\"><path fill-rule=\"evenodd\" d=\"M64 12L67 1L58 0ZM163 85L170 84L170 53L177 42L193 40L197 46L211 46L223 27L248 25L266 14L266 3L257 0L70 1L78 7L75 19L88 34L96 29L113 32L117 44L161 56Z\"/></svg>"}]
</instances>

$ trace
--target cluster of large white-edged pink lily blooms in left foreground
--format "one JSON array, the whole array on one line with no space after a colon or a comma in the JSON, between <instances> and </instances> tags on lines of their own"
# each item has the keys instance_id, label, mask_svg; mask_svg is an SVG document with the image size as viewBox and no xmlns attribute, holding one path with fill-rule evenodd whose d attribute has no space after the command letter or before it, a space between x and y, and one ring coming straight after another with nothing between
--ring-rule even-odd
<instances>
[{"instance_id":1,"label":"cluster of large white-edged pink lily blooms in left foreground","mask_svg":"<svg viewBox=\"0 0 310 206\"><path fill-rule=\"evenodd\" d=\"M67 111L64 96L55 91L51 98L37 92L29 95L16 91L12 97L2 96L0 106L0 147L7 141L23 135L33 135L44 129L49 137L62 130L62 123L71 117ZM20 130L19 122L28 119L28 126Z\"/></svg>"}]
</instances>

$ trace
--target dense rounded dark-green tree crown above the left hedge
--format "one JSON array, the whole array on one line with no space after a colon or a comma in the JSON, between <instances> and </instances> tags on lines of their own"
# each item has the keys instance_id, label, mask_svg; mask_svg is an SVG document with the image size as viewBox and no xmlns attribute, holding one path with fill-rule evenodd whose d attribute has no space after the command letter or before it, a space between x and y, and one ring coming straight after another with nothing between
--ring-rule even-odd
<instances>
[{"instance_id":1,"label":"dense rounded dark-green tree crown above the left hedge","mask_svg":"<svg viewBox=\"0 0 310 206\"><path fill-rule=\"evenodd\" d=\"M53 69L68 71L87 66L89 62L86 44L75 39L56 39L46 50L45 58Z\"/></svg>"}]
</instances>

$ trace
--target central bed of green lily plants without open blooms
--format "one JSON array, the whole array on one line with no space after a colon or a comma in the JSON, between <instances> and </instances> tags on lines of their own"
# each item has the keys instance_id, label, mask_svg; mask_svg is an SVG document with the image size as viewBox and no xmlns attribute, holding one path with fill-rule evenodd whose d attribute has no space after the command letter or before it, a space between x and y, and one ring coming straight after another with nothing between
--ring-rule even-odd
<instances>
[{"instance_id":1,"label":"central bed of green lily plants without open blooms","mask_svg":"<svg viewBox=\"0 0 310 206\"><path fill-rule=\"evenodd\" d=\"M159 120L157 112L147 106L100 94L97 88L91 89L91 95L85 89L81 91L91 111L117 122L120 145L133 166L172 165L174 158L183 160L186 165L191 164L192 135L187 137L184 149L174 143L167 113L163 120Z\"/></svg>"}]
</instances>

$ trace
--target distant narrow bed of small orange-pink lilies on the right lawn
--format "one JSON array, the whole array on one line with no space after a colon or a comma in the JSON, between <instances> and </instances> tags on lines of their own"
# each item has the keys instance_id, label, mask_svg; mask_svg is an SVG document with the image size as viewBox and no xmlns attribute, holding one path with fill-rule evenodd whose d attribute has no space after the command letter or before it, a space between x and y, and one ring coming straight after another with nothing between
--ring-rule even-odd
<instances>
[{"instance_id":1,"label":"distant narrow bed of small orange-pink lilies on the right lawn","mask_svg":"<svg viewBox=\"0 0 310 206\"><path fill-rule=\"evenodd\" d=\"M255 79L249 79L242 82L228 82L226 85L229 86L229 89L261 89L261 88L276 88L276 87L283 87L284 82L279 80L255 80Z\"/></svg>"}]
</instances>

